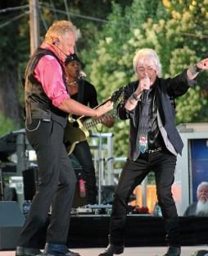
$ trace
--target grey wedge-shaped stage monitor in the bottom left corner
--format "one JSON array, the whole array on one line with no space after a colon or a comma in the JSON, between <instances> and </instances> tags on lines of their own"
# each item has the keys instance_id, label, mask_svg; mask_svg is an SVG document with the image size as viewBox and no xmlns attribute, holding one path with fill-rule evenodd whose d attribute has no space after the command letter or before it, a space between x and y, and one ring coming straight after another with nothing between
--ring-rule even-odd
<instances>
[{"instance_id":1,"label":"grey wedge-shaped stage monitor in the bottom left corner","mask_svg":"<svg viewBox=\"0 0 208 256\"><path fill-rule=\"evenodd\" d=\"M16 202L0 202L0 250L15 249L25 217Z\"/></svg>"}]
</instances>

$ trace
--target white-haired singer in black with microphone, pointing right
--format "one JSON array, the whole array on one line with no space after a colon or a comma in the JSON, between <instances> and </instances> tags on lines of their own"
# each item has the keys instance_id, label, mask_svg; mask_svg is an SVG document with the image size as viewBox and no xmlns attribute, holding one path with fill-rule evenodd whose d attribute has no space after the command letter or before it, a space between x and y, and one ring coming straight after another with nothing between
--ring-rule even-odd
<instances>
[{"instance_id":1,"label":"white-haired singer in black with microphone, pointing right","mask_svg":"<svg viewBox=\"0 0 208 256\"><path fill-rule=\"evenodd\" d=\"M125 86L124 103L118 106L120 119L130 121L129 158L115 191L109 245L99 256L123 253L129 197L150 171L155 172L158 203L165 220L169 248L164 256L179 256L179 217L171 186L183 142L174 125L174 98L196 84L195 78L200 71L208 70L208 58L174 78L162 79L159 57L154 50L145 48L133 58L133 69L138 80Z\"/></svg>"}]
</instances>

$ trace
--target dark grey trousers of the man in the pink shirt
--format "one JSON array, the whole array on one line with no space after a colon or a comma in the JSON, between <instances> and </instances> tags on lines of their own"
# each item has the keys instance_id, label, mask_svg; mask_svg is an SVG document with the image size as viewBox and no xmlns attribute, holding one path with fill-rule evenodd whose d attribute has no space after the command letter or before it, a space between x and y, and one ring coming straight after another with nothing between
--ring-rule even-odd
<instances>
[{"instance_id":1,"label":"dark grey trousers of the man in the pink shirt","mask_svg":"<svg viewBox=\"0 0 208 256\"><path fill-rule=\"evenodd\" d=\"M29 127L34 128L34 125ZM34 131L26 130L26 135L37 153L38 190L20 232L18 245L39 247L38 234L47 222L51 205L52 217L46 241L66 245L76 176L63 144L64 128L55 121L41 121L38 126L37 120L35 127Z\"/></svg>"}]
</instances>

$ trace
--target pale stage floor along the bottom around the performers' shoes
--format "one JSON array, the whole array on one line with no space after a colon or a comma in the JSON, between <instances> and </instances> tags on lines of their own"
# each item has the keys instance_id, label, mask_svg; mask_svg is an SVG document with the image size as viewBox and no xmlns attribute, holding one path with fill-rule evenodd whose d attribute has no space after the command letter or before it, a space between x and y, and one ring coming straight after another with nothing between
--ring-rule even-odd
<instances>
[{"instance_id":1,"label":"pale stage floor along the bottom around the performers' shoes","mask_svg":"<svg viewBox=\"0 0 208 256\"><path fill-rule=\"evenodd\" d=\"M205 249L208 251L208 246L183 246L182 256L191 256L197 250ZM79 252L81 256L97 256L102 252L102 248L87 248L87 249L73 249ZM126 247L124 249L124 256L162 256L165 254L165 247ZM0 251L0 256L15 256L15 251Z\"/></svg>"}]
</instances>

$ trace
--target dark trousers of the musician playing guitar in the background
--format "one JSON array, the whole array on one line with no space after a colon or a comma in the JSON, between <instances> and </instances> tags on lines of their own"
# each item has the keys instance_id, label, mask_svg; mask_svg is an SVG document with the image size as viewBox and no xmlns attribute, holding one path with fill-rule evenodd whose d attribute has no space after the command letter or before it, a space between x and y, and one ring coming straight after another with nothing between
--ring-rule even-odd
<instances>
[{"instance_id":1,"label":"dark trousers of the musician playing guitar in the background","mask_svg":"<svg viewBox=\"0 0 208 256\"><path fill-rule=\"evenodd\" d=\"M76 144L73 151L75 158L79 161L79 164L84 169L85 185L87 189L87 203L96 203L97 185L95 168L93 165L93 159L88 145L88 141L84 140Z\"/></svg>"}]
</instances>

